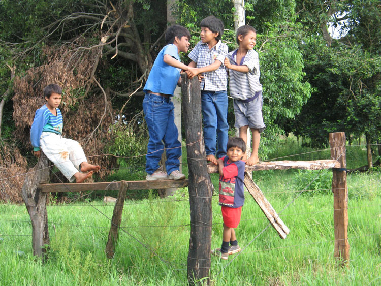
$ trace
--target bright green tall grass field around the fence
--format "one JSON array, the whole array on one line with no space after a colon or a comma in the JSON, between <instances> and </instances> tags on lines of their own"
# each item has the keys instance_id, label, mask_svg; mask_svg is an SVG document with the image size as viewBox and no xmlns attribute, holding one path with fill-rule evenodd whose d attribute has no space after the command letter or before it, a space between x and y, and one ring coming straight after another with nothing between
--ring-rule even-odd
<instances>
[{"instance_id":1,"label":"bright green tall grass field around the fence","mask_svg":"<svg viewBox=\"0 0 381 286\"><path fill-rule=\"evenodd\" d=\"M276 154L310 152L284 141ZM295 145L294 145L295 144ZM354 148L357 148L356 150ZM325 153L324 153L325 152ZM321 153L317 157L316 153ZM366 155L366 154L365 154ZM364 150L348 148L348 168L366 164ZM288 160L329 158L329 150ZM306 157L309 156L309 157ZM365 156L365 159L364 159ZM365 161L365 162L364 162ZM228 261L212 257L213 285L379 285L381 284L381 172L348 174L350 263L333 258L332 172L262 171L254 181L290 228L279 238L255 201L245 192L236 230L241 248ZM317 176L304 192L304 187ZM215 185L218 175L212 174ZM328 187L327 187L328 185ZM48 206L51 245L42 264L31 251L31 226L25 206L0 204L0 285L184 285L189 247L187 190L173 198L125 202L118 246L105 258L113 205L91 199ZM222 218L213 196L212 248L220 247ZM106 217L107 216L107 217ZM264 231L263 231L264 230Z\"/></svg>"}]
</instances>

